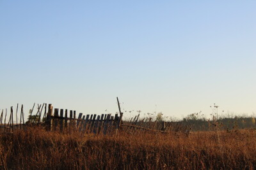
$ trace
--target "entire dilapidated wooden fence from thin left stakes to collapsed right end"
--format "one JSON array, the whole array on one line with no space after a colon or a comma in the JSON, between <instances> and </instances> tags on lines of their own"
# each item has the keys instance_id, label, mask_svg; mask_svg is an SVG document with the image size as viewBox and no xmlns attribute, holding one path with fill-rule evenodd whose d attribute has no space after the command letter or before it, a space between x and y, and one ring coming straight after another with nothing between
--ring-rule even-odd
<instances>
[{"instance_id":1,"label":"entire dilapidated wooden fence from thin left stakes to collapsed right end","mask_svg":"<svg viewBox=\"0 0 256 170\"><path fill-rule=\"evenodd\" d=\"M139 120L140 114L130 121L122 121L123 113L120 109L120 103L117 98L119 114L112 116L111 114L102 115L83 115L79 113L76 117L76 111L74 110L63 110L59 108L53 108L52 104L37 104L36 115L33 114L35 104L29 111L29 121L25 124L24 122L24 111L23 104L20 109L20 122L18 124L18 108L16 110L16 124L13 124L13 107L10 109L10 118L8 124L6 124L6 113L7 110L2 111L0 116L0 128L4 129L5 132L13 132L14 129L23 129L26 125L44 125L47 131L71 131L77 130L84 133L94 134L112 134L118 130L122 130L128 133L136 132L184 132L189 133L191 131L191 125L182 125L175 122L163 122L163 121L152 121L152 118ZM43 111L44 110L44 111ZM68 116L69 115L69 116ZM42 121L41 121L42 118ZM4 120L4 124L3 124Z\"/></svg>"}]
</instances>

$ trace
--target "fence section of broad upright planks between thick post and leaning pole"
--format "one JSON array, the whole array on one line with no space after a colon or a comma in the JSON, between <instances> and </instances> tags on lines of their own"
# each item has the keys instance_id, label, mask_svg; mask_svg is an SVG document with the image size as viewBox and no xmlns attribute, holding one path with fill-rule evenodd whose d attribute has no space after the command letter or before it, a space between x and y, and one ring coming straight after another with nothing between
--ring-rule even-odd
<instances>
[{"instance_id":1,"label":"fence section of broad upright planks between thick post and leaning pole","mask_svg":"<svg viewBox=\"0 0 256 170\"><path fill-rule=\"evenodd\" d=\"M70 110L68 117L68 110L54 108L53 111L52 104L49 104L45 125L48 131L76 129L85 133L109 134L118 131L121 121L122 113L119 116L115 114L115 117L111 114L83 115L79 113L76 118L76 111Z\"/></svg>"}]
</instances>

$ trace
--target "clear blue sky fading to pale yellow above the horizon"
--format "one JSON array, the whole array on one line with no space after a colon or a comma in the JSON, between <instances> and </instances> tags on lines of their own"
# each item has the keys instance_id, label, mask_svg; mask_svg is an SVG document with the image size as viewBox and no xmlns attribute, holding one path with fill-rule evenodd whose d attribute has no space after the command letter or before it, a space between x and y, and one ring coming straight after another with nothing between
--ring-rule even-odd
<instances>
[{"instance_id":1,"label":"clear blue sky fading to pale yellow above the horizon","mask_svg":"<svg viewBox=\"0 0 256 170\"><path fill-rule=\"evenodd\" d=\"M256 1L0 0L0 109L256 112ZM106 111L107 110L107 111ZM126 111L126 112L125 112Z\"/></svg>"}]
</instances>

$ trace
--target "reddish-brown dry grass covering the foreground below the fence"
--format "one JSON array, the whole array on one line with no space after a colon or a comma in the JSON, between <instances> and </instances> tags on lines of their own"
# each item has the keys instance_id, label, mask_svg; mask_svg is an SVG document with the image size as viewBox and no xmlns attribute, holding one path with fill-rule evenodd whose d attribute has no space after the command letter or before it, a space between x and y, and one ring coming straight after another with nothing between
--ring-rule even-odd
<instances>
[{"instance_id":1,"label":"reddish-brown dry grass covering the foreground below the fence","mask_svg":"<svg viewBox=\"0 0 256 170\"><path fill-rule=\"evenodd\" d=\"M1 134L1 169L255 169L256 131L94 136Z\"/></svg>"}]
</instances>

